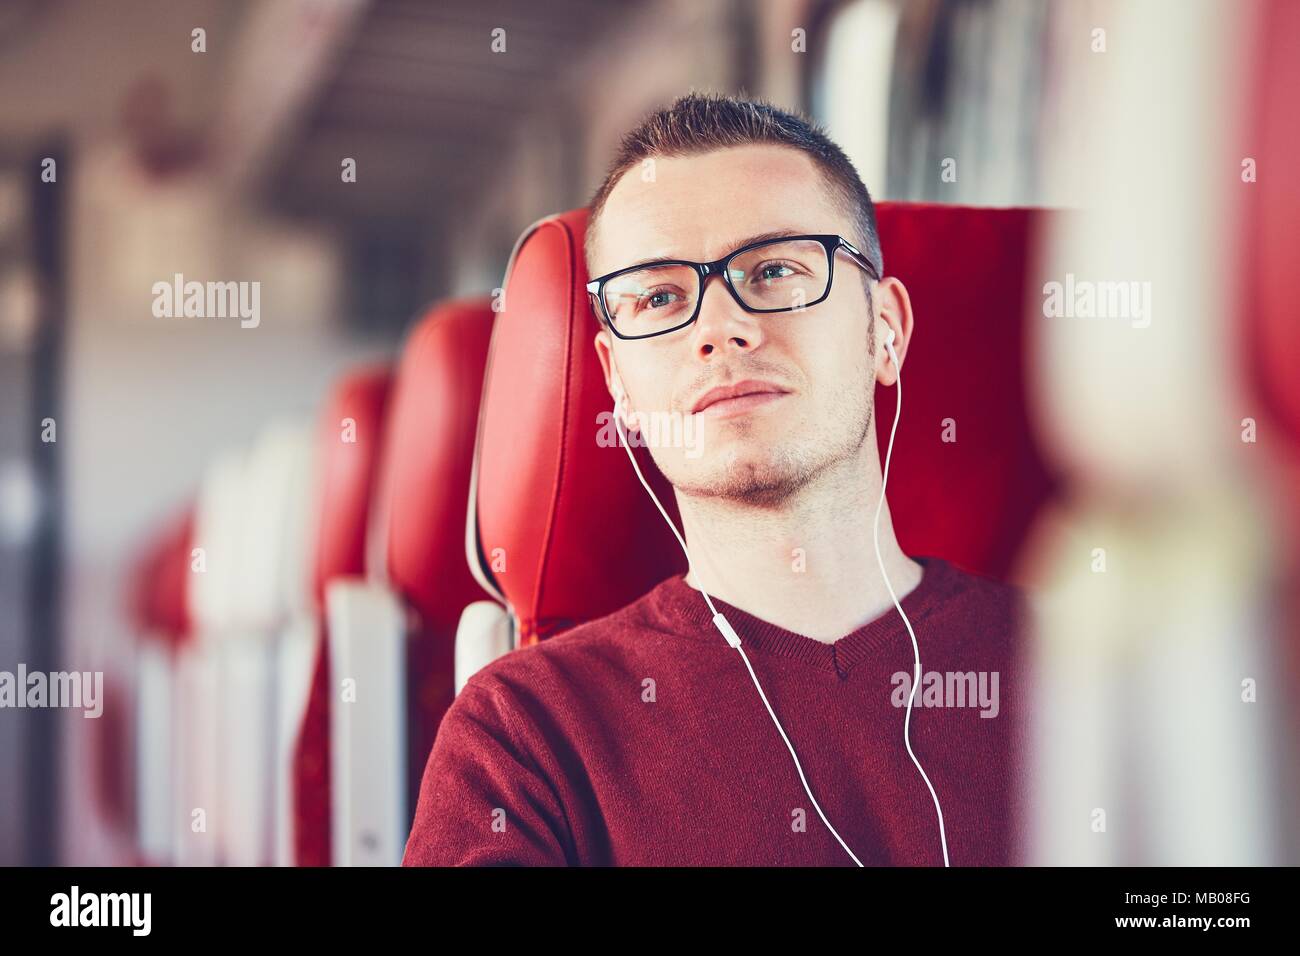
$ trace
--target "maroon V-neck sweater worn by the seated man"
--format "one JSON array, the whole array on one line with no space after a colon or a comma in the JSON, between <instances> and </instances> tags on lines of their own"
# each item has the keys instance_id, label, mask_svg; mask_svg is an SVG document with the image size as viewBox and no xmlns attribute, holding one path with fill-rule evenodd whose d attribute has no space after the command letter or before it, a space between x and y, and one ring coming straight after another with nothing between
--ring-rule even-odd
<instances>
[{"instance_id":1,"label":"maroon V-neck sweater worn by the seated man","mask_svg":"<svg viewBox=\"0 0 1300 956\"><path fill-rule=\"evenodd\" d=\"M923 669L911 747L952 865L1013 864L1023 596L916 561L922 581L902 600ZM898 611L826 644L714 604L858 858L942 865L933 799L902 739L913 648ZM429 756L403 865L474 864L854 865L682 576L465 684Z\"/></svg>"}]
</instances>

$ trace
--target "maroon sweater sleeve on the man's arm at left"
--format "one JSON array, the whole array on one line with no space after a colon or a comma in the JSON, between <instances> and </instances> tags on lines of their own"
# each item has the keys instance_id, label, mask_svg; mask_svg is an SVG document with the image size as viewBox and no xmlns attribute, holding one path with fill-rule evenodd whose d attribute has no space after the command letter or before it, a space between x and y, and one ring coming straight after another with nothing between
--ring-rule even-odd
<instances>
[{"instance_id":1,"label":"maroon sweater sleeve on the man's arm at left","mask_svg":"<svg viewBox=\"0 0 1300 956\"><path fill-rule=\"evenodd\" d=\"M403 866L564 866L572 839L503 689L471 680L442 718Z\"/></svg>"}]
</instances>

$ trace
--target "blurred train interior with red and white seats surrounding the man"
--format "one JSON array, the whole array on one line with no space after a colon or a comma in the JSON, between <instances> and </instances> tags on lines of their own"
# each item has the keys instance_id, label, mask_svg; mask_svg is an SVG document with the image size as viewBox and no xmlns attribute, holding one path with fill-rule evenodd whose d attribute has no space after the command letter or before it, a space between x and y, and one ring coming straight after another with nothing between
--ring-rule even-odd
<instances>
[{"instance_id":1,"label":"blurred train interior with red and white seats surrounding the man","mask_svg":"<svg viewBox=\"0 0 1300 956\"><path fill-rule=\"evenodd\" d=\"M879 203L900 542L1041 602L1026 862L1300 862L1297 64L1287 0L9 0L0 864L396 865L465 678L680 558L555 450L584 207L690 90Z\"/></svg>"}]
</instances>

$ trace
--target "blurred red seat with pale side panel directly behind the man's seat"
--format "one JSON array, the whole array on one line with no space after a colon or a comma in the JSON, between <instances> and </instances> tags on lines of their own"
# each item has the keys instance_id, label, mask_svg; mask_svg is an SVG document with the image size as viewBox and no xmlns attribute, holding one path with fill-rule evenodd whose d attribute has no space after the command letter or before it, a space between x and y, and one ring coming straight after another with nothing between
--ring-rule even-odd
<instances>
[{"instance_id":1,"label":"blurred red seat with pale side panel directly behind the man's seat","mask_svg":"<svg viewBox=\"0 0 1300 956\"><path fill-rule=\"evenodd\" d=\"M420 771L451 705L455 633L482 591L464 561L484 363L486 298L436 306L402 350L387 407L369 584L326 593L330 671L358 696L332 710L335 865L396 865ZM365 688L365 693L360 692Z\"/></svg>"}]
</instances>

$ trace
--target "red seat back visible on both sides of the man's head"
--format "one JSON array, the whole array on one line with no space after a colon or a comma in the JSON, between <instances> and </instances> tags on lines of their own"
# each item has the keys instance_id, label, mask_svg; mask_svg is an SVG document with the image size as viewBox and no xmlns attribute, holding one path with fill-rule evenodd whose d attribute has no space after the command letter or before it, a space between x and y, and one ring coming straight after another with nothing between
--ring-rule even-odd
<instances>
[{"instance_id":1,"label":"red seat back visible on both sides of the man's head","mask_svg":"<svg viewBox=\"0 0 1300 956\"><path fill-rule=\"evenodd\" d=\"M1046 215L878 207L887 272L909 287L916 315L889 477L898 537L910 553L993 576L1006 574L1054 488L1031 432L1023 358L1023 290ZM480 564L514 609L520 644L614 611L685 570L627 453L597 441L612 402L592 346L585 224L575 209L521 237L484 392ZM876 401L883 460L893 390L878 389ZM954 444L942 441L946 418ZM638 460L680 527L663 476L644 450Z\"/></svg>"}]
</instances>

